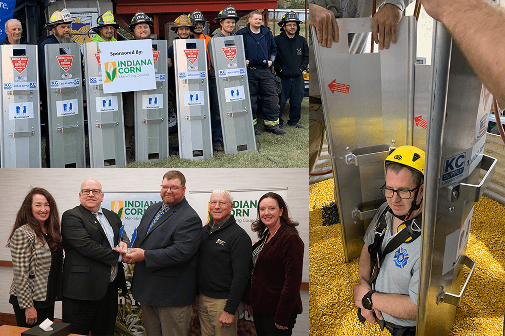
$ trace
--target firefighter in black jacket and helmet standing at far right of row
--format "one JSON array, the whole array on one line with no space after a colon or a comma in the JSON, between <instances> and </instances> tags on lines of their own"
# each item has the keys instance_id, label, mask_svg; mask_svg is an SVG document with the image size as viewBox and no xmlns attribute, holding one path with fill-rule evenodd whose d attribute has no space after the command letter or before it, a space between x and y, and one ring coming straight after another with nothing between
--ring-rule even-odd
<instances>
[{"instance_id":1,"label":"firefighter in black jacket and helmet standing at far right of row","mask_svg":"<svg viewBox=\"0 0 505 336\"><path fill-rule=\"evenodd\" d=\"M309 46L305 38L299 35L301 21L293 11L284 14L278 25L280 35L274 37L277 43L275 70L281 78L282 92L279 101L279 123L286 101L289 98L289 126L305 129L300 123L301 117L301 86L304 70L309 65Z\"/></svg>"}]
</instances>

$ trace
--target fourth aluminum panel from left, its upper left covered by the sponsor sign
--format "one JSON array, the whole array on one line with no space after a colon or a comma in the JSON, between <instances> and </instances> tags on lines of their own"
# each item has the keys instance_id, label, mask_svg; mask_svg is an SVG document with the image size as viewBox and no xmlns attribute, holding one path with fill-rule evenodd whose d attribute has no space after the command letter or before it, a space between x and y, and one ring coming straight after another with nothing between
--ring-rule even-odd
<instances>
[{"instance_id":1,"label":"fourth aluminum panel from left, its upper left covered by the sponsor sign","mask_svg":"<svg viewBox=\"0 0 505 336\"><path fill-rule=\"evenodd\" d=\"M167 41L152 42L156 89L135 91L135 160L138 162L164 160L169 150Z\"/></svg>"}]
</instances>

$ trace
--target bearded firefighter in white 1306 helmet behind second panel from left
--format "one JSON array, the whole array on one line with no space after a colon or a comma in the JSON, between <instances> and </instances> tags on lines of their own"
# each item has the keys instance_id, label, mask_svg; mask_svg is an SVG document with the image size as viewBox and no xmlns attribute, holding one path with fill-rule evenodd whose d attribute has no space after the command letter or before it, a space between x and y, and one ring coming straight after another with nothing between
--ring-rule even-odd
<instances>
[{"instance_id":1,"label":"bearded firefighter in white 1306 helmet behind second panel from left","mask_svg":"<svg viewBox=\"0 0 505 336\"><path fill-rule=\"evenodd\" d=\"M42 102L42 113L40 114L40 123L45 127L42 134L45 135L45 163L47 167L50 166L49 161L49 125L48 125L48 108L47 108L47 88L45 87L45 51L46 44L55 43L72 43L72 27L71 24L74 20L67 9L55 11L51 18L45 24L45 29L52 30L53 35L47 36L45 40L38 46L38 74L40 85L40 101ZM66 49L60 49L67 52Z\"/></svg>"}]
</instances>

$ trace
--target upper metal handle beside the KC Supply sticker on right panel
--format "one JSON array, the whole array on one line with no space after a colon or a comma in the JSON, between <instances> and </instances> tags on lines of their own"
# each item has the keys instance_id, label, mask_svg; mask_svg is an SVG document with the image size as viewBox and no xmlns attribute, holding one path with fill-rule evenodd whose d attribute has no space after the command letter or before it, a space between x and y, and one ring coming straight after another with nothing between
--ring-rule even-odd
<instances>
[{"instance_id":1,"label":"upper metal handle beside the KC Supply sticker on right panel","mask_svg":"<svg viewBox=\"0 0 505 336\"><path fill-rule=\"evenodd\" d=\"M458 199L469 202L477 202L487 186L491 182L491 178L494 175L494 168L498 160L492 156L482 155L481 169L487 171L486 175L482 178L482 181L478 185L460 183L458 185L449 188L449 201L454 202Z\"/></svg>"}]
</instances>

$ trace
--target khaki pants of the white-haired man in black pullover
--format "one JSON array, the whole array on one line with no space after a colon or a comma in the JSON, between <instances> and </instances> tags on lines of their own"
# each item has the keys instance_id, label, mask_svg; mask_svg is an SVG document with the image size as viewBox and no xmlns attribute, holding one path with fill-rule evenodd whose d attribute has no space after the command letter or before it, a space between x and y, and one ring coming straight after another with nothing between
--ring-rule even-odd
<instances>
[{"instance_id":1,"label":"khaki pants of the white-haired man in black pullover","mask_svg":"<svg viewBox=\"0 0 505 336\"><path fill-rule=\"evenodd\" d=\"M244 311L244 304L240 302L233 323L229 326L219 326L219 316L223 313L227 299L214 299L200 294L198 296L198 317L200 319L202 336L237 336L238 317Z\"/></svg>"}]
</instances>

